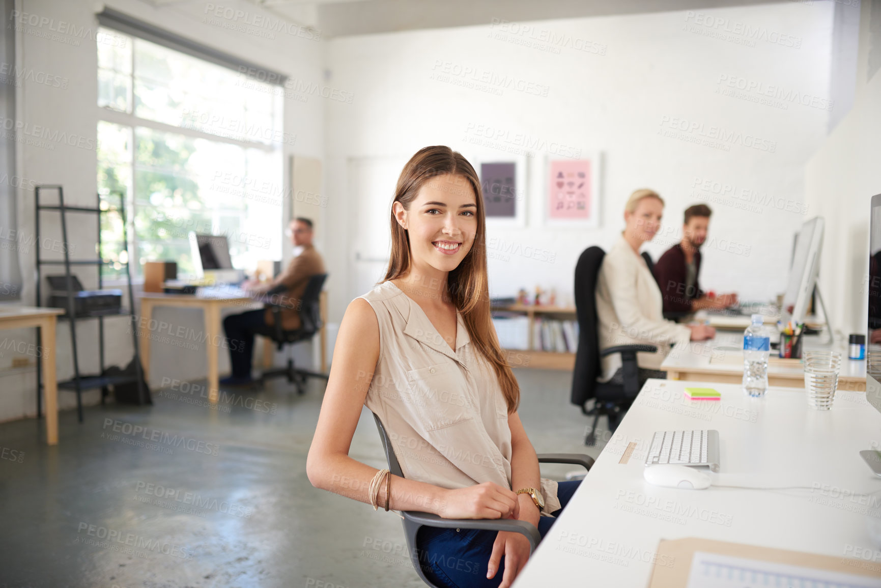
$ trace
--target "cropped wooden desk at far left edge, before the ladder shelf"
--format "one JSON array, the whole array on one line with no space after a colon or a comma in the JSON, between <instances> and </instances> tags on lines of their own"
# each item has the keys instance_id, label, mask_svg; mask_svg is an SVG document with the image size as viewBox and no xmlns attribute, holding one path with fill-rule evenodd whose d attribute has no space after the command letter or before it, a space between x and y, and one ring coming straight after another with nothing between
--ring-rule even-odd
<instances>
[{"instance_id":1,"label":"cropped wooden desk at far left edge, before the ladder shelf","mask_svg":"<svg viewBox=\"0 0 881 588\"><path fill-rule=\"evenodd\" d=\"M0 329L37 327L41 331L43 391L46 394L46 443L58 444L58 379L56 377L56 316L64 309L0 306ZM37 390L37 394L40 391Z\"/></svg>"}]
</instances>

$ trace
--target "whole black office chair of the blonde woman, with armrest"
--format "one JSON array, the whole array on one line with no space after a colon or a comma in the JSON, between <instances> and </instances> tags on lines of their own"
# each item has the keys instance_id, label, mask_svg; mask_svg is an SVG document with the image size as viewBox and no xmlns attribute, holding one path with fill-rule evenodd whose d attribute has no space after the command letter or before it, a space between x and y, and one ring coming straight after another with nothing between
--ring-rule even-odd
<instances>
[{"instance_id":1,"label":"whole black office chair of the blonde woman, with armrest","mask_svg":"<svg viewBox=\"0 0 881 588\"><path fill-rule=\"evenodd\" d=\"M581 253L575 265L575 312L578 315L578 350L572 373L572 404L581 406L581 412L594 417L594 424L584 439L585 445L596 443L596 423L601 415L609 420L610 432L618 427L633 399L640 393L639 366L636 354L655 353L654 345L620 345L600 352L596 318L596 279L603 265L605 251L589 247ZM599 383L600 359L609 354L621 354L624 384ZM588 403L593 400L593 406Z\"/></svg>"}]
</instances>

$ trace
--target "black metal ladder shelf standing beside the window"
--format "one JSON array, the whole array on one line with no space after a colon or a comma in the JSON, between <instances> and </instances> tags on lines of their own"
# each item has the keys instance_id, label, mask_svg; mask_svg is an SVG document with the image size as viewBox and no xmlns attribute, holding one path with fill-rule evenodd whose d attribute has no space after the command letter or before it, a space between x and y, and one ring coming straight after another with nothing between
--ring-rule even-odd
<instances>
[{"instance_id":1,"label":"black metal ladder shelf standing beside the window","mask_svg":"<svg viewBox=\"0 0 881 588\"><path fill-rule=\"evenodd\" d=\"M58 205L44 206L40 204L40 193L43 190L56 190L58 192ZM126 233L126 219L125 219L125 198L122 194L118 194L119 196L119 207L118 208L107 208L101 209L100 207L100 195L98 195L97 206L94 208L89 208L85 206L65 206L64 205L64 189L60 185L41 185L36 186L34 189L34 196L36 200L36 207L34 216L36 217L34 227L35 233L37 236L37 306L41 307L42 297L40 294L41 287L41 279L42 279L42 266L44 265L63 265L64 266L64 276L65 283L67 285L67 314L59 316L59 318L67 319L70 321L70 346L73 353L73 373L74 376L70 380L66 380L64 382L58 383L59 390L71 390L77 392L77 414L79 421L83 421L83 397L82 393L84 390L92 390L94 388L101 389L101 404L104 404L104 398L107 396L107 386L112 386L119 383L132 383L137 382L137 398L140 404L144 404L144 388L143 388L143 378L141 376L141 361L140 361L140 352L138 350L138 339L137 339L137 317L134 314L134 305L135 305L135 297L132 293L131 289L131 272L130 266L128 263L124 263L122 265L125 266L125 275L128 281L129 287L129 306L130 309L125 310L122 309L118 314L94 314L94 315L77 315L76 309L73 304L73 292L72 292L72 274L70 273L70 268L78 265L94 265L98 267L98 289L100 290L103 286L102 277L101 277L101 267L104 264L112 263L105 261L100 258L101 255L101 222L100 215L104 212L119 212L122 217L122 248L125 251L129 250L129 238ZM40 258L40 213L42 211L56 211L61 213L61 233L62 233L62 242L63 242L63 260L48 260ZM71 260L70 259L70 246L67 239L67 216L66 212L85 212L91 214L99 215L98 219L98 258L97 259L85 259L85 260ZM122 262L119 262L122 263ZM104 317L105 316L129 316L131 322L131 340L132 344L135 348L135 376L103 376L104 374ZM99 358L100 358L100 375L99 376L81 376L79 373L79 361L77 354L77 321L83 320L86 318L98 318L99 323L99 336L98 336L98 345L99 345ZM40 330L37 330L37 346L41 345L41 334ZM42 391L42 370L41 370L41 357L37 355L37 418L41 416L41 391Z\"/></svg>"}]
</instances>

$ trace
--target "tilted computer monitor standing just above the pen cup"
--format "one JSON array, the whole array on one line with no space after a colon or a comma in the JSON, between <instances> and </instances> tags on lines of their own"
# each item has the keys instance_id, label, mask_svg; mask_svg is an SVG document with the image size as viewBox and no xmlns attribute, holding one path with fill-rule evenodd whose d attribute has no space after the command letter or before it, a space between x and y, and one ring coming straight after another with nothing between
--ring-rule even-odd
<instances>
[{"instance_id":1,"label":"tilted computer monitor standing just above the pen cup","mask_svg":"<svg viewBox=\"0 0 881 588\"><path fill-rule=\"evenodd\" d=\"M789 282L783 294L783 320L803 323L817 285L820 251L823 249L823 219L808 220L802 226L796 240L796 250L789 268ZM828 317L826 317L828 320Z\"/></svg>"}]
</instances>

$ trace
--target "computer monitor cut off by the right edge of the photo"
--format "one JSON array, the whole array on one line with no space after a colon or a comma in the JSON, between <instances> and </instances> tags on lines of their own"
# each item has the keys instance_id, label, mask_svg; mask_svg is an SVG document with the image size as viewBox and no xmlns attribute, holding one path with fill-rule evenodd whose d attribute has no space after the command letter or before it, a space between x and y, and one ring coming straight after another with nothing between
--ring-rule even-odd
<instances>
[{"instance_id":1,"label":"computer monitor cut off by the right edge of the photo","mask_svg":"<svg viewBox=\"0 0 881 588\"><path fill-rule=\"evenodd\" d=\"M869 324L866 338L866 400L881 411L881 194L869 215Z\"/></svg>"}]
</instances>

